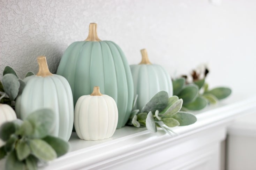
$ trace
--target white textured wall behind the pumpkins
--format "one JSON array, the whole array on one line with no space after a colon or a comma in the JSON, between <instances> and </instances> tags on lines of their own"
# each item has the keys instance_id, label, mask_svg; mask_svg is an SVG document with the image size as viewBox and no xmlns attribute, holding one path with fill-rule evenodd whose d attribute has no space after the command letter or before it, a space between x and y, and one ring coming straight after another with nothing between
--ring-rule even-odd
<instances>
[{"instance_id":1,"label":"white textured wall behind the pumpkins","mask_svg":"<svg viewBox=\"0 0 256 170\"><path fill-rule=\"evenodd\" d=\"M208 63L211 87L256 94L255 7L254 0L0 0L0 73L7 65L21 77L36 73L39 55L55 73L63 51L96 22L99 38L119 44L130 64L146 48L171 75Z\"/></svg>"}]
</instances>

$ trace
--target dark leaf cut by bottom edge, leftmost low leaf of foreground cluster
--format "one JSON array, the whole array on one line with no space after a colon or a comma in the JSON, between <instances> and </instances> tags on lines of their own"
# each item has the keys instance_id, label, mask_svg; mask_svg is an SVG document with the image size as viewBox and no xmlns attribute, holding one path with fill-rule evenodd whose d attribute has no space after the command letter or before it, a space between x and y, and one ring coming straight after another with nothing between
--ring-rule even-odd
<instances>
[{"instance_id":1,"label":"dark leaf cut by bottom edge, leftmost low leaf of foreground cluster","mask_svg":"<svg viewBox=\"0 0 256 170\"><path fill-rule=\"evenodd\" d=\"M5 170L25 170L25 164L18 160L15 151L7 156Z\"/></svg>"}]
</instances>

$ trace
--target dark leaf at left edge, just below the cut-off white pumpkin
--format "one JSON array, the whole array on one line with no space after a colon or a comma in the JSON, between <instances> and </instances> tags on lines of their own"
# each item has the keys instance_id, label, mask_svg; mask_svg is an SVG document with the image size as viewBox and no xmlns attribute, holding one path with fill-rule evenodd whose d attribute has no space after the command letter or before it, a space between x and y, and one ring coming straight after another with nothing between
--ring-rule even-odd
<instances>
[{"instance_id":1,"label":"dark leaf at left edge, just below the cut-off white pumpkin","mask_svg":"<svg viewBox=\"0 0 256 170\"><path fill-rule=\"evenodd\" d=\"M0 127L0 138L3 141L7 141L13 133L15 133L15 124L13 122L5 122Z\"/></svg>"}]
</instances>

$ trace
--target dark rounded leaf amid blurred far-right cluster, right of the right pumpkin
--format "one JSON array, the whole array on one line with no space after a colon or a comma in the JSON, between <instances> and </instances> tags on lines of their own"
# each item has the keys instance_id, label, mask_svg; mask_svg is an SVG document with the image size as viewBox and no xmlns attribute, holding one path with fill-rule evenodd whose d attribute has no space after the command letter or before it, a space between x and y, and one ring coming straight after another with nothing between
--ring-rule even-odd
<instances>
[{"instance_id":1,"label":"dark rounded leaf amid blurred far-right cluster, right of the right pumpkin","mask_svg":"<svg viewBox=\"0 0 256 170\"><path fill-rule=\"evenodd\" d=\"M183 99L183 103L187 104L189 102L192 102L193 100L196 99L196 96L198 94L198 88L196 85L187 85L185 86L181 92L179 93L178 97L180 99Z\"/></svg>"}]
</instances>

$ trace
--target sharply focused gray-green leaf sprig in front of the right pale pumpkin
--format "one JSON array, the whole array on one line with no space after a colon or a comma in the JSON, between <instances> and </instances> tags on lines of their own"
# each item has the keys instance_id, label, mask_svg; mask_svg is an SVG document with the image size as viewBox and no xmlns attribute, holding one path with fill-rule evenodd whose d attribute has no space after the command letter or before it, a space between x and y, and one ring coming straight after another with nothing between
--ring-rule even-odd
<instances>
[{"instance_id":1,"label":"sharply focused gray-green leaf sprig in front of the right pale pumpkin","mask_svg":"<svg viewBox=\"0 0 256 170\"><path fill-rule=\"evenodd\" d=\"M160 91L146 103L141 111L131 112L127 125L146 127L150 132L157 132L157 127L161 127L172 135L170 128L187 126L197 120L194 114L180 111L182 103L183 100L177 96L169 98L166 91Z\"/></svg>"}]
</instances>

